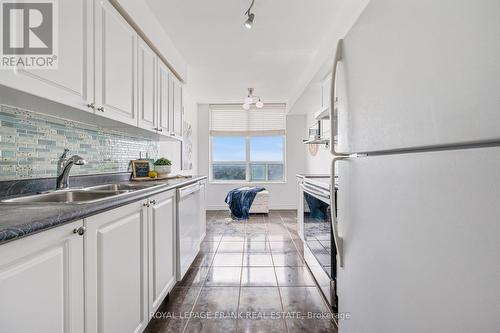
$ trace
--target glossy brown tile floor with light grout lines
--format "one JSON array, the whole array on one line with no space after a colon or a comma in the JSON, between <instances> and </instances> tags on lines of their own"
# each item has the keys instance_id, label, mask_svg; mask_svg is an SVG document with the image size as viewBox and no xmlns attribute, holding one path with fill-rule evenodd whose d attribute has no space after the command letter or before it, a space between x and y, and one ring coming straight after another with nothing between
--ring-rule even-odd
<instances>
[{"instance_id":1,"label":"glossy brown tile floor with light grout lines","mask_svg":"<svg viewBox=\"0 0 500 333\"><path fill-rule=\"evenodd\" d=\"M200 254L145 332L336 332L296 222L291 210L246 221L207 212Z\"/></svg>"}]
</instances>

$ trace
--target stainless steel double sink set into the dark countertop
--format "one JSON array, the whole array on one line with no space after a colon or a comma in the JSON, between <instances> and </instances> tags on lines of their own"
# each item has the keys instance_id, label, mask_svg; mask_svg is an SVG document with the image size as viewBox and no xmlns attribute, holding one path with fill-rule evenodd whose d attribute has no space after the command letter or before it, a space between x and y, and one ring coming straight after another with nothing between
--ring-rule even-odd
<instances>
[{"instance_id":1,"label":"stainless steel double sink set into the dark countertop","mask_svg":"<svg viewBox=\"0 0 500 333\"><path fill-rule=\"evenodd\" d=\"M87 191L87 190L68 190L55 191L49 193L28 195L13 199L3 200L2 202L11 203L91 203L105 200L110 197L125 194L129 191Z\"/></svg>"}]
</instances>

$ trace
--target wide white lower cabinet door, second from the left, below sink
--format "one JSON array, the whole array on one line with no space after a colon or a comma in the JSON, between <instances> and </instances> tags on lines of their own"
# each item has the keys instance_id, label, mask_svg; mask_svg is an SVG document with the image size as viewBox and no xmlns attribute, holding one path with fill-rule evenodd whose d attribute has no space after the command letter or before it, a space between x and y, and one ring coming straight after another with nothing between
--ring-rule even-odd
<instances>
[{"instance_id":1,"label":"wide white lower cabinet door, second from the left, below sink","mask_svg":"<svg viewBox=\"0 0 500 333\"><path fill-rule=\"evenodd\" d=\"M142 331L148 323L146 207L135 202L84 222L87 331Z\"/></svg>"}]
</instances>

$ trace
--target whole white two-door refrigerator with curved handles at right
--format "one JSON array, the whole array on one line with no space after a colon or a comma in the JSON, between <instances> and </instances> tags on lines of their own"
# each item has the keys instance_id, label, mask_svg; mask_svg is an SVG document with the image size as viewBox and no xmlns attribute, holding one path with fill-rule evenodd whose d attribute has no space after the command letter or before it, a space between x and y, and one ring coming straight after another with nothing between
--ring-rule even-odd
<instances>
[{"instance_id":1,"label":"whole white two-door refrigerator with curved handles at right","mask_svg":"<svg viewBox=\"0 0 500 333\"><path fill-rule=\"evenodd\" d=\"M340 333L500 332L500 1L372 0L334 76Z\"/></svg>"}]
</instances>

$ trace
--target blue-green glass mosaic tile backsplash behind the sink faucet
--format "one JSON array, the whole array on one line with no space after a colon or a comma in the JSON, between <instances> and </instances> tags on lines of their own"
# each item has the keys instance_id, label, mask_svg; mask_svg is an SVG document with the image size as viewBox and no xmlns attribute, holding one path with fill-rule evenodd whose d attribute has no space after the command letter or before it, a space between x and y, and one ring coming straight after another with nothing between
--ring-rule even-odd
<instances>
[{"instance_id":1,"label":"blue-green glass mosaic tile backsplash behind the sink faucet","mask_svg":"<svg viewBox=\"0 0 500 333\"><path fill-rule=\"evenodd\" d=\"M158 156L159 143L75 121L0 105L0 180L55 177L64 148L87 165L72 175L121 172L139 153Z\"/></svg>"}]
</instances>

